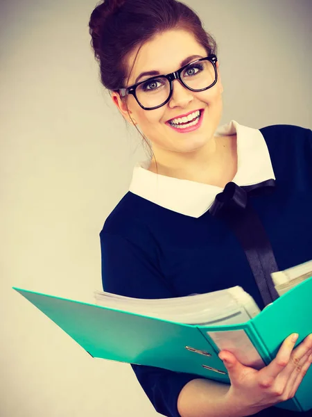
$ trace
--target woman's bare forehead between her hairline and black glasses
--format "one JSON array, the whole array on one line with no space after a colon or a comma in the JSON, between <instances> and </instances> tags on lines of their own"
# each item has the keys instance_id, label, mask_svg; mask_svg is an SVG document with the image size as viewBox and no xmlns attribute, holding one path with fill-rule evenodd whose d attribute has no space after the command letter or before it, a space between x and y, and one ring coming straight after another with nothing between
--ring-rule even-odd
<instances>
[{"instance_id":1,"label":"woman's bare forehead between her hairline and black glasses","mask_svg":"<svg viewBox=\"0 0 312 417\"><path fill-rule=\"evenodd\" d=\"M129 71L136 54L137 49L128 56ZM207 51L197 42L193 33L173 30L156 35L141 47L131 72L129 85L141 72L156 70L161 74L167 74L177 70L184 58L197 54L206 56Z\"/></svg>"}]
</instances>

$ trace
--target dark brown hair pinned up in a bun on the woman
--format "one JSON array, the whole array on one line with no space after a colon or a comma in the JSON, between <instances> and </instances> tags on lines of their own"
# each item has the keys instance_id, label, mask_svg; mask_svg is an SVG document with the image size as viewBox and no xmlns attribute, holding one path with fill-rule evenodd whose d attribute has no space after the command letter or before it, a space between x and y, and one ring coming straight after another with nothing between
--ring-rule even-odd
<instances>
[{"instance_id":1,"label":"dark brown hair pinned up in a bun on the woman","mask_svg":"<svg viewBox=\"0 0 312 417\"><path fill-rule=\"evenodd\" d=\"M117 91L126 87L135 65L133 63L131 69L127 67L128 54L136 48L139 53L145 42L172 29L193 33L207 55L217 54L216 42L205 31L198 15L180 1L105 0L98 3L89 20L89 33L105 88Z\"/></svg>"}]
</instances>

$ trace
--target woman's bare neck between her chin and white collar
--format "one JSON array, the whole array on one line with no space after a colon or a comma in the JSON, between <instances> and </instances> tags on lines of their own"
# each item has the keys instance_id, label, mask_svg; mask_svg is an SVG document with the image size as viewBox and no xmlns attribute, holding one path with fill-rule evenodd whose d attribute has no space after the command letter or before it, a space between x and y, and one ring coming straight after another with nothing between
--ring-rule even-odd
<instances>
[{"instance_id":1,"label":"woman's bare neck between her chin and white collar","mask_svg":"<svg viewBox=\"0 0 312 417\"><path fill-rule=\"evenodd\" d=\"M148 170L166 177L224 187L237 171L236 135L213 137L194 152L168 153L154 147L153 152Z\"/></svg>"}]
</instances>

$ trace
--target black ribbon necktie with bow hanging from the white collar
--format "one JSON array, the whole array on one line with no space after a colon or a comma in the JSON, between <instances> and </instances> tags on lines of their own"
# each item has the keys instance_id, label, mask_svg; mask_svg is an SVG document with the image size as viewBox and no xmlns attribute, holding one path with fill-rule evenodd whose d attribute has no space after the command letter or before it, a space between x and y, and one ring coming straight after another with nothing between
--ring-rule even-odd
<instances>
[{"instance_id":1,"label":"black ribbon necktie with bow hanging from the white collar","mask_svg":"<svg viewBox=\"0 0 312 417\"><path fill-rule=\"evenodd\" d=\"M270 193L274 188L274 179L241 187L229 182L209 208L209 213L225 220L239 239L265 305L279 296L271 278L278 267L270 240L249 197Z\"/></svg>"}]
</instances>

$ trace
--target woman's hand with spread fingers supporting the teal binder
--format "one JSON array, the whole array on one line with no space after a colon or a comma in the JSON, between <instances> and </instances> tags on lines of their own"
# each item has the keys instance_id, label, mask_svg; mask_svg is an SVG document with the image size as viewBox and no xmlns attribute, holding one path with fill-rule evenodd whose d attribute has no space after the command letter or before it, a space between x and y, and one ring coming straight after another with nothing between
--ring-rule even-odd
<instances>
[{"instance_id":1,"label":"woman's hand with spread fingers supporting the teal binder","mask_svg":"<svg viewBox=\"0 0 312 417\"><path fill-rule=\"evenodd\" d=\"M295 349L293 336L284 340L275 359L261 370L244 366L226 350L219 353L231 381L225 400L233 415L252 416L293 398L312 363L312 334Z\"/></svg>"}]
</instances>

